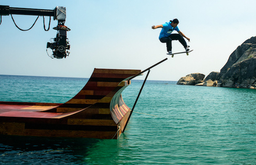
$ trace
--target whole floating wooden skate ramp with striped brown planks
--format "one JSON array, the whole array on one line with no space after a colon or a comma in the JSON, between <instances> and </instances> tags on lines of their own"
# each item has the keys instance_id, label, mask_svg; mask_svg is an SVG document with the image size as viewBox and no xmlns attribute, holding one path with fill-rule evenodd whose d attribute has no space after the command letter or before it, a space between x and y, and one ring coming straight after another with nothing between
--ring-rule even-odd
<instances>
[{"instance_id":1,"label":"whole floating wooden skate ramp with striped brown planks","mask_svg":"<svg viewBox=\"0 0 256 165\"><path fill-rule=\"evenodd\" d=\"M118 138L130 115L122 91L140 72L95 68L83 89L65 104L0 102L0 134Z\"/></svg>"}]
</instances>

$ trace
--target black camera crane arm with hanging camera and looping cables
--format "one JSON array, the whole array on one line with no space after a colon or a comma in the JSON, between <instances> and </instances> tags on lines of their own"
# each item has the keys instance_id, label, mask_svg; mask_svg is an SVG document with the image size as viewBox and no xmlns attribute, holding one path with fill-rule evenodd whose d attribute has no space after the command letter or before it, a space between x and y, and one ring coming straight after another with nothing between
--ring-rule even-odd
<instances>
[{"instance_id":1,"label":"black camera crane arm with hanging camera and looping cables","mask_svg":"<svg viewBox=\"0 0 256 165\"><path fill-rule=\"evenodd\" d=\"M48 48L52 49L52 55L50 57L61 59L63 57L66 58L66 56L69 56L69 52L67 50L70 49L70 45L67 39L67 31L70 31L70 28L67 28L64 25L66 21L65 7L57 6L54 10L45 10L45 9L29 9L29 8L11 8L10 6L0 5L0 16L1 16L0 24L2 23L2 16L9 16L9 15L12 16L12 14L31 15L31 16L38 16L38 17L43 16L43 18L44 16L49 16L50 17L49 27L51 23L51 17L54 17L54 20L58 20L58 25L54 27L54 30L57 30L57 35L56 35L56 38L54 38L54 42L47 42L47 49ZM37 20L35 20L35 22L36 21ZM13 19L13 22L15 23L14 19ZM34 24L32 25L32 27L34 26ZM49 30L49 27L48 27L48 30ZM31 28L29 28L28 30L30 30ZM22 29L19 28L19 30L22 30ZM44 30L48 31L45 29L45 24L44 24ZM27 31L27 30L22 30L22 31Z\"/></svg>"}]
</instances>

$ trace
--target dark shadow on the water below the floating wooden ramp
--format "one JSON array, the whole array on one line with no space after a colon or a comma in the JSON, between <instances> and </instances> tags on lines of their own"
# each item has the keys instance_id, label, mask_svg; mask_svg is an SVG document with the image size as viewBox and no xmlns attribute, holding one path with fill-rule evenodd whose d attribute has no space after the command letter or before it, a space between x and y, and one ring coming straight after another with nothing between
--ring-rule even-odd
<instances>
[{"instance_id":1,"label":"dark shadow on the water below the floating wooden ramp","mask_svg":"<svg viewBox=\"0 0 256 165\"><path fill-rule=\"evenodd\" d=\"M77 164L102 140L0 136L0 162L12 164ZM0 163L0 164L1 164Z\"/></svg>"}]
</instances>

